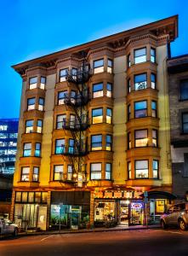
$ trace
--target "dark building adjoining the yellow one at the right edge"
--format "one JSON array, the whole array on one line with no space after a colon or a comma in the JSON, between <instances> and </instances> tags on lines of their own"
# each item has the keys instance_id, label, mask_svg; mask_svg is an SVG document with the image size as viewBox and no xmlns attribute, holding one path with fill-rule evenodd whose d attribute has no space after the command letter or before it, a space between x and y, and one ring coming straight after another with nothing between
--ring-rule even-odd
<instances>
[{"instance_id":1,"label":"dark building adjoining the yellow one at the right edge","mask_svg":"<svg viewBox=\"0 0 188 256\"><path fill-rule=\"evenodd\" d=\"M168 59L173 192L188 194L188 55Z\"/></svg>"}]
</instances>

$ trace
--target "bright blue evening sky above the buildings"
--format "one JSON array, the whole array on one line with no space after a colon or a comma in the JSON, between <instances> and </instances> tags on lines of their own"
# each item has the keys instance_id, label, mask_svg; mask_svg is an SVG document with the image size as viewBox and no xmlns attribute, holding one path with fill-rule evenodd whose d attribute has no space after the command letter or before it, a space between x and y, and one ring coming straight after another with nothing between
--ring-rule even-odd
<instances>
[{"instance_id":1,"label":"bright blue evening sky above the buildings","mask_svg":"<svg viewBox=\"0 0 188 256\"><path fill-rule=\"evenodd\" d=\"M179 15L172 56L188 54L186 0L0 0L0 118L20 114L16 63Z\"/></svg>"}]
</instances>

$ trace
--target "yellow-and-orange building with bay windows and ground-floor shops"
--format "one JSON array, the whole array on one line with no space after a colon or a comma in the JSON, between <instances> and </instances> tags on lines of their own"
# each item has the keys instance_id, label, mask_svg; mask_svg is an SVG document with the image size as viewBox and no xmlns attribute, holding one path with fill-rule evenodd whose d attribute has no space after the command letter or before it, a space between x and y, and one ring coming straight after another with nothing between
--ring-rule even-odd
<instances>
[{"instance_id":1,"label":"yellow-and-orange building with bay windows and ground-floor shops","mask_svg":"<svg viewBox=\"0 0 188 256\"><path fill-rule=\"evenodd\" d=\"M145 212L160 217L173 199L167 59L177 22L172 16L13 66L23 79L16 223L76 229L110 219L145 224Z\"/></svg>"}]
</instances>

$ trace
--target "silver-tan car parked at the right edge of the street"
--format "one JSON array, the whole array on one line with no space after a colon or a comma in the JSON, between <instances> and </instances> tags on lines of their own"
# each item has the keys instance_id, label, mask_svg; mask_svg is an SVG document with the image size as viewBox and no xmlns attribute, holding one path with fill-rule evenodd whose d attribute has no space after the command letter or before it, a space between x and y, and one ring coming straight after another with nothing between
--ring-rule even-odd
<instances>
[{"instance_id":1,"label":"silver-tan car parked at the right edge of the street","mask_svg":"<svg viewBox=\"0 0 188 256\"><path fill-rule=\"evenodd\" d=\"M161 216L162 229L168 226L179 226L181 230L188 228L188 202L182 202L170 207Z\"/></svg>"}]
</instances>

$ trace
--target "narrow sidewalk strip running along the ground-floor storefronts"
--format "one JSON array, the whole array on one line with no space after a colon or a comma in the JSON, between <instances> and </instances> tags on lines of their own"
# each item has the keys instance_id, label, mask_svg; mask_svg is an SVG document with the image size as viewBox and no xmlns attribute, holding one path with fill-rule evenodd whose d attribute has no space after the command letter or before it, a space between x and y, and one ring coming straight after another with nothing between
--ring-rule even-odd
<instances>
[{"instance_id":1,"label":"narrow sidewalk strip running along the ground-floor storefronts","mask_svg":"<svg viewBox=\"0 0 188 256\"><path fill-rule=\"evenodd\" d=\"M125 231L125 230L146 230L146 229L158 229L160 224L153 224L148 226L123 226L118 225L114 228L94 228L83 230L48 230L48 231L32 231L19 233L19 236L38 236L38 235L60 235L60 234L77 234L77 233L91 233L91 232L110 232L110 231Z\"/></svg>"}]
</instances>

